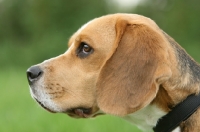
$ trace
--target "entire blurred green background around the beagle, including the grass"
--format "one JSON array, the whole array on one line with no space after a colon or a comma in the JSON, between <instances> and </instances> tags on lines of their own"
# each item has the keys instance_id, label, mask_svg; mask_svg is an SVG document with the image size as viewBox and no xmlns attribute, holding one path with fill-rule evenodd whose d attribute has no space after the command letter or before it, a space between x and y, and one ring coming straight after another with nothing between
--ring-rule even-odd
<instances>
[{"instance_id":1,"label":"entire blurred green background around the beagle, including the grass","mask_svg":"<svg viewBox=\"0 0 200 132\"><path fill-rule=\"evenodd\" d=\"M155 20L200 62L199 0L126 1L0 0L0 132L140 132L118 117L72 119L42 110L30 97L25 73L65 52L70 35L87 21L117 12Z\"/></svg>"}]
</instances>

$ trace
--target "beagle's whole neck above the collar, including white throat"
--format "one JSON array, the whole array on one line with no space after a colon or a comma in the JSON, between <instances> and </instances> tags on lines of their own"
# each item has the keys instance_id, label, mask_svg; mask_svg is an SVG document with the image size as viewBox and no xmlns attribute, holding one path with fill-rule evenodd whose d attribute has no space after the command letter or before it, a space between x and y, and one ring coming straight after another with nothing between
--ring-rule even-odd
<instances>
[{"instance_id":1,"label":"beagle's whole neck above the collar, including white throat","mask_svg":"<svg viewBox=\"0 0 200 132\"><path fill-rule=\"evenodd\" d=\"M174 54L177 66L172 77L159 86L155 99L145 108L124 117L143 131L152 131L158 120L191 94L200 92L200 65L197 64L170 36L164 33ZM172 64L174 65L174 64ZM185 126L187 124L185 123ZM177 127L173 132L180 132Z\"/></svg>"}]
</instances>

